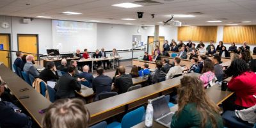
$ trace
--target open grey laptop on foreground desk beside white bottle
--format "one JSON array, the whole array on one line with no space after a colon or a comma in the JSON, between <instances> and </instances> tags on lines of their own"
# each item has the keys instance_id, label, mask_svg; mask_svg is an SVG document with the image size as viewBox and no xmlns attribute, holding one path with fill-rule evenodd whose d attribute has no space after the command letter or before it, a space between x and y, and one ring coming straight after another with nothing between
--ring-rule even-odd
<instances>
[{"instance_id":1,"label":"open grey laptop on foreground desk beside white bottle","mask_svg":"<svg viewBox=\"0 0 256 128\"><path fill-rule=\"evenodd\" d=\"M171 127L173 112L170 111L165 95L152 99L154 109L154 120L165 127Z\"/></svg>"}]
</instances>

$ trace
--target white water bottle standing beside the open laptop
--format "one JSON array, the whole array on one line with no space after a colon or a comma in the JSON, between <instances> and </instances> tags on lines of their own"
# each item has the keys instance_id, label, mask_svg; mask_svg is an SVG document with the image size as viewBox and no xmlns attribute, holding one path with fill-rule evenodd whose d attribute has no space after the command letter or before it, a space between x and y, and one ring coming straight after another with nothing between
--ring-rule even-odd
<instances>
[{"instance_id":1,"label":"white water bottle standing beside the open laptop","mask_svg":"<svg viewBox=\"0 0 256 128\"><path fill-rule=\"evenodd\" d=\"M148 106L147 106L147 110L146 110L146 119L145 119L145 126L146 127L152 127L153 113L154 113L154 109L153 109L153 106L152 106L152 100L148 100Z\"/></svg>"}]
</instances>

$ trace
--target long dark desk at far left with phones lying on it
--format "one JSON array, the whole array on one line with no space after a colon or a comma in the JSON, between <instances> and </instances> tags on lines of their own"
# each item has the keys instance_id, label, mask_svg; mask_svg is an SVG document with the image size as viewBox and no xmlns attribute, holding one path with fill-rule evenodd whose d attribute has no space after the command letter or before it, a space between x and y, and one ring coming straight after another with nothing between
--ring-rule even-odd
<instances>
[{"instance_id":1,"label":"long dark desk at far left with phones lying on it","mask_svg":"<svg viewBox=\"0 0 256 128\"><path fill-rule=\"evenodd\" d=\"M20 104L28 111L29 116L35 120L36 124L42 127L41 121L43 114L38 113L40 109L48 108L51 102L43 95L36 92L36 90L26 83L19 76L14 74L12 70L4 65L0 65L0 76L3 81L6 81L8 88L13 95L19 100ZM29 90L20 92L22 88L29 88ZM19 99L20 96L29 95L28 99Z\"/></svg>"}]
</instances>

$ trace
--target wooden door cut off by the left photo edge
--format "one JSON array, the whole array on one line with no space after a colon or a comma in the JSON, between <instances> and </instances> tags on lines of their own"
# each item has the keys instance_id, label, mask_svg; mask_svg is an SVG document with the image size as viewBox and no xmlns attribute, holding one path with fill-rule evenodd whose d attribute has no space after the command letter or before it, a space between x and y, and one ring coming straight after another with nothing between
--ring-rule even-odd
<instances>
[{"instance_id":1,"label":"wooden door cut off by the left photo edge","mask_svg":"<svg viewBox=\"0 0 256 128\"><path fill-rule=\"evenodd\" d=\"M7 51L0 51L0 62L4 63L6 67L10 68L10 35L0 34L0 49Z\"/></svg>"}]
</instances>

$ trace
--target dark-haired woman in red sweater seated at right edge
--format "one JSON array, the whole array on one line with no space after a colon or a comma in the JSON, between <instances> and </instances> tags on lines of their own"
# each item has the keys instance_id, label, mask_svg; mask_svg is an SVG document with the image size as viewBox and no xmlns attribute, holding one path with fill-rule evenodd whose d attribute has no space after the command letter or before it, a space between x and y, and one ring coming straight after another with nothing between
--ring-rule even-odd
<instances>
[{"instance_id":1,"label":"dark-haired woman in red sweater seated at right edge","mask_svg":"<svg viewBox=\"0 0 256 128\"><path fill-rule=\"evenodd\" d=\"M248 71L246 62L241 59L232 61L230 65L233 77L228 82L229 90L236 93L234 109L250 108L256 104L256 74Z\"/></svg>"}]
</instances>

